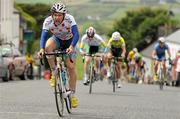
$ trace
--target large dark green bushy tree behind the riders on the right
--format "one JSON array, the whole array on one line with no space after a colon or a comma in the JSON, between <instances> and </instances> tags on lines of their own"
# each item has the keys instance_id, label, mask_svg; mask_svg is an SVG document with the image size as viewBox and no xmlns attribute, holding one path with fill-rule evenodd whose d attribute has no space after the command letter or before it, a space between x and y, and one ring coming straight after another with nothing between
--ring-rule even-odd
<instances>
[{"instance_id":1,"label":"large dark green bushy tree behind the riders on the right","mask_svg":"<svg viewBox=\"0 0 180 119\"><path fill-rule=\"evenodd\" d=\"M153 9L143 7L133 11L127 11L126 16L114 22L114 31L119 31L125 38L127 49L137 47L139 50L144 49L155 41L158 36L158 28L167 24L176 25L178 22L173 20L165 9ZM150 42L145 39L150 38Z\"/></svg>"}]
</instances>

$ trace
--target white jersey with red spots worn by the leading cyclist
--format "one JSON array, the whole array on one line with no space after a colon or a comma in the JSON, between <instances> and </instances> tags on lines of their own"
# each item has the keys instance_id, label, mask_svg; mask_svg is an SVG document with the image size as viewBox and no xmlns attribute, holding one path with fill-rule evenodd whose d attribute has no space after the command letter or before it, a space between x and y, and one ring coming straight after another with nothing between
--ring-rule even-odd
<instances>
[{"instance_id":1,"label":"white jersey with red spots worn by the leading cyclist","mask_svg":"<svg viewBox=\"0 0 180 119\"><path fill-rule=\"evenodd\" d=\"M43 30L50 30L53 35L61 40L69 40L73 37L71 27L76 25L74 17L66 14L61 24L55 25L52 16L45 19Z\"/></svg>"}]
</instances>

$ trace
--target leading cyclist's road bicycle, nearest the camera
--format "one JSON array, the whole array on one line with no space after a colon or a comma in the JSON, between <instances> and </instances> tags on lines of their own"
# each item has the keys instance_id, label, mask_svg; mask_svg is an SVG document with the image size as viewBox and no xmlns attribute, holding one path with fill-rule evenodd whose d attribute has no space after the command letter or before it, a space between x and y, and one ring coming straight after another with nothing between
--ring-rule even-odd
<instances>
[{"instance_id":1,"label":"leading cyclist's road bicycle, nearest the camera","mask_svg":"<svg viewBox=\"0 0 180 119\"><path fill-rule=\"evenodd\" d=\"M56 70L55 70L55 86L54 86L54 94L56 101L57 112L60 117L63 116L64 113L64 102L66 104L66 109L68 113L71 113L71 91L69 89L69 74L65 65L64 56L66 55L66 51L55 50L51 53L45 53L44 56L54 55L56 57ZM70 59L72 62L72 60ZM42 60L41 60L41 64Z\"/></svg>"}]
</instances>

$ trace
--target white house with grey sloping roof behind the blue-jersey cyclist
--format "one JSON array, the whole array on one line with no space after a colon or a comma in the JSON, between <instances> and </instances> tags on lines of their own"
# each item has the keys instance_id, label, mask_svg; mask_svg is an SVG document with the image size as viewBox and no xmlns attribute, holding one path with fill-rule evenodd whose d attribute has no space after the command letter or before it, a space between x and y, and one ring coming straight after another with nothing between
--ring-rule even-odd
<instances>
[{"instance_id":1,"label":"white house with grey sloping roof behind the blue-jersey cyclist","mask_svg":"<svg viewBox=\"0 0 180 119\"><path fill-rule=\"evenodd\" d=\"M156 43L157 41L155 41L147 48L145 48L143 51L141 51L141 54L143 55L143 59L146 61L146 64L149 68L149 70L147 71L147 75L150 76L152 76L153 74L153 62L152 62L151 54L154 49L154 45ZM172 55L171 58L174 59L177 51L180 50L180 29L168 35L166 37L166 43L169 45L170 52Z\"/></svg>"}]
</instances>

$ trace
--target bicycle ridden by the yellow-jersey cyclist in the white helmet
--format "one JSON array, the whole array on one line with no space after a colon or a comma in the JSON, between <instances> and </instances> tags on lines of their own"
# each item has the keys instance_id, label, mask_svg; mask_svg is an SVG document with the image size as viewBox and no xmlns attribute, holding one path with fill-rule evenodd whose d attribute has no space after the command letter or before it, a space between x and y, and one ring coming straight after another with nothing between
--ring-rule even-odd
<instances>
[{"instance_id":1,"label":"bicycle ridden by the yellow-jersey cyclist in the white helmet","mask_svg":"<svg viewBox=\"0 0 180 119\"><path fill-rule=\"evenodd\" d=\"M117 85L117 82L118 82L117 69L116 68L117 68L117 62L119 60L123 60L123 58L113 56L111 58L111 62L110 62L110 72L111 72L110 80L112 81L112 84L113 84L113 92L115 92L116 85Z\"/></svg>"}]
</instances>

